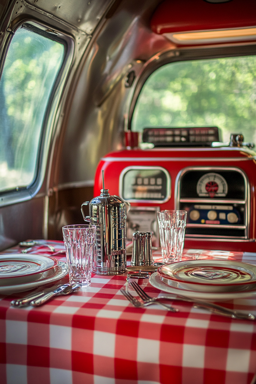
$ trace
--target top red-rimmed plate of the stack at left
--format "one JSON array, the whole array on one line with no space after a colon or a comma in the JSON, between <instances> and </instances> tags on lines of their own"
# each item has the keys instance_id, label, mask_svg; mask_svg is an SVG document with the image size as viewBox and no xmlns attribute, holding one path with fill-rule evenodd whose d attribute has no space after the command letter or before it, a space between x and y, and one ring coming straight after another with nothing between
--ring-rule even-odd
<instances>
[{"instance_id":1,"label":"top red-rimmed plate of the stack at left","mask_svg":"<svg viewBox=\"0 0 256 384\"><path fill-rule=\"evenodd\" d=\"M45 272L58 264L50 256L8 253L0 255L0 279L17 278Z\"/></svg>"}]
</instances>

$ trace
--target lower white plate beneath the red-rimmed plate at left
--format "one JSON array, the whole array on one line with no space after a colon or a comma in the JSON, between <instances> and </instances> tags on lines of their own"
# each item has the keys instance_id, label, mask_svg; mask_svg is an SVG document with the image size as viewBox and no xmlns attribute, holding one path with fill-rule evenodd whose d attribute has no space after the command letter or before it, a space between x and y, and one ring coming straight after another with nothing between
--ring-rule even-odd
<instances>
[{"instance_id":1,"label":"lower white plate beneath the red-rimmed plate at left","mask_svg":"<svg viewBox=\"0 0 256 384\"><path fill-rule=\"evenodd\" d=\"M54 273L51 276L42 278L40 280L31 281L30 283L25 283L25 284L0 286L0 294L2 295L2 294L11 294L14 292L29 291L40 285L45 285L53 281L59 280L64 276L66 276L66 274L68 273L68 268L66 266L66 263L59 263L55 268L53 268L53 270L54 270Z\"/></svg>"}]
</instances>

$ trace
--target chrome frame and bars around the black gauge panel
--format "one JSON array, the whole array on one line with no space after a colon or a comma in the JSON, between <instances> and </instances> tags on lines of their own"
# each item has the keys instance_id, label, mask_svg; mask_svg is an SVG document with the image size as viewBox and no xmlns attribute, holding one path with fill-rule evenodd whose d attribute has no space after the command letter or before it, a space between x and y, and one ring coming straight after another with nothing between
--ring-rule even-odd
<instances>
[{"instance_id":1,"label":"chrome frame and bars around the black gauge panel","mask_svg":"<svg viewBox=\"0 0 256 384\"><path fill-rule=\"evenodd\" d=\"M243 179L244 179L244 187L245 187L245 190L244 190L244 197L245 199L244 200L229 200L229 199L220 199L220 200L210 200L210 199L180 199L180 182L181 182L181 178L182 176L189 172L189 171L198 171L198 170L202 170L202 171L222 171L222 170L226 170L226 171L235 171L235 172L239 172L242 176L243 176ZM245 210L244 210L244 225L243 226L235 226L235 225L216 225L214 224L212 227L213 228L229 228L229 229L244 229L244 236L243 237L236 237L236 236L225 236L226 239L232 239L232 238L240 238L240 239L248 239L248 235L249 235L249 224L250 224L250 188L249 188L249 180L248 180L248 177L247 175L244 173L244 171L238 167L185 167L183 169L180 170L180 172L178 172L177 174L177 177L175 179L175 187L174 187L174 209L180 209L180 202L200 202L200 203L230 203L230 204L244 204L245 206ZM200 224L188 224L187 227L198 227L198 228L210 228L209 225L206 227L205 224L203 225L200 225ZM240 228L240 227L243 227L243 228ZM186 238L202 238L202 237L205 237L205 238L215 238L216 241L220 238L223 238L222 236L214 236L214 235L190 235L190 234L187 234L185 235Z\"/></svg>"}]
</instances>

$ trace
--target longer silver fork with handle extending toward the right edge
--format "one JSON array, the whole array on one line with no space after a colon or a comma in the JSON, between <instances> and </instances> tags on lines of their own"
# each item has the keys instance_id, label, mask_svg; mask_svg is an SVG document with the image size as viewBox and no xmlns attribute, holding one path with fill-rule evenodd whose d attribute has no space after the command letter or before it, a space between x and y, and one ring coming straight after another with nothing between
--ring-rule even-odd
<instances>
[{"instance_id":1,"label":"longer silver fork with handle extending toward the right edge","mask_svg":"<svg viewBox=\"0 0 256 384\"><path fill-rule=\"evenodd\" d=\"M255 320L255 316L252 313L243 313L236 310L231 310L229 308L222 307L217 304L213 303L207 303L205 301L201 300L193 300L190 298L187 298L185 296L178 296L178 297L167 297L167 296L158 296L158 297L150 297L145 293L145 291L135 282L132 281L131 283L132 288L134 291L139 295L139 297L144 301L144 303L160 303L161 300L170 300L170 301L186 301L188 303L193 303L194 308L201 308L208 310L215 314L220 314L222 316L231 317L233 319L246 319L246 320Z\"/></svg>"}]
</instances>

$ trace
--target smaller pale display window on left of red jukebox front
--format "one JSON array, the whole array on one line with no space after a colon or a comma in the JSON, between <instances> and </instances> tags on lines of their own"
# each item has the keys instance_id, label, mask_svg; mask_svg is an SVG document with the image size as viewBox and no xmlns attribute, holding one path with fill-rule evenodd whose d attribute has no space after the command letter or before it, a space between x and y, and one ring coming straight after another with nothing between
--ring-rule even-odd
<instances>
[{"instance_id":1,"label":"smaller pale display window on left of red jukebox front","mask_svg":"<svg viewBox=\"0 0 256 384\"><path fill-rule=\"evenodd\" d=\"M162 167L127 167L119 179L119 194L129 202L164 203L170 198L171 178Z\"/></svg>"}]
</instances>

